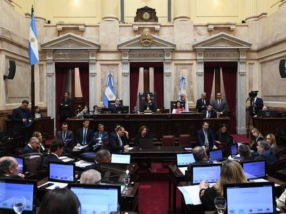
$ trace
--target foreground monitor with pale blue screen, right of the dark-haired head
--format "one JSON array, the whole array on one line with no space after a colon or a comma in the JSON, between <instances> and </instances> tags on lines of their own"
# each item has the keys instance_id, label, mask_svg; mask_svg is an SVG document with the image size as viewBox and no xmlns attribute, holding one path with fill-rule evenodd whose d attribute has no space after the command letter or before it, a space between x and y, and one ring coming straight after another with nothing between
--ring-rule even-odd
<instances>
[{"instance_id":1,"label":"foreground monitor with pale blue screen, right of the dark-haired head","mask_svg":"<svg viewBox=\"0 0 286 214\"><path fill-rule=\"evenodd\" d=\"M120 185L68 184L68 188L77 195L81 213L119 212Z\"/></svg>"}]
</instances>

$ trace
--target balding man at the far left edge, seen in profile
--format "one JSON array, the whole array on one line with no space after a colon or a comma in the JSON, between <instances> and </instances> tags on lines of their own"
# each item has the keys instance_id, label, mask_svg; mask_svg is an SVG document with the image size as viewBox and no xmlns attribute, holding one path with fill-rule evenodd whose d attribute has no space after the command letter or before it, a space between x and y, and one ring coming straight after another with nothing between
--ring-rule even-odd
<instances>
[{"instance_id":1,"label":"balding man at the far left edge, seen in profile","mask_svg":"<svg viewBox=\"0 0 286 214\"><path fill-rule=\"evenodd\" d=\"M22 179L24 177L19 173L18 162L15 158L10 156L0 158L0 178Z\"/></svg>"}]
</instances>

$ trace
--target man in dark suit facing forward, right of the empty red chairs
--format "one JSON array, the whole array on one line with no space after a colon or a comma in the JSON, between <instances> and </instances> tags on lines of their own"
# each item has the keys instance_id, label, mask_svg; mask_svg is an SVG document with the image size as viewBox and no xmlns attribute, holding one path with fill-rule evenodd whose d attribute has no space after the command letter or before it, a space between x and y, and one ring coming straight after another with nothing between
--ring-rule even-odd
<instances>
[{"instance_id":1,"label":"man in dark suit facing forward, right of the empty red chairs","mask_svg":"<svg viewBox=\"0 0 286 214\"><path fill-rule=\"evenodd\" d=\"M207 136L207 138L205 138ZM207 151L216 149L216 140L213 131L209 129L209 122L202 122L202 129L197 132L198 145L204 147Z\"/></svg>"}]
</instances>

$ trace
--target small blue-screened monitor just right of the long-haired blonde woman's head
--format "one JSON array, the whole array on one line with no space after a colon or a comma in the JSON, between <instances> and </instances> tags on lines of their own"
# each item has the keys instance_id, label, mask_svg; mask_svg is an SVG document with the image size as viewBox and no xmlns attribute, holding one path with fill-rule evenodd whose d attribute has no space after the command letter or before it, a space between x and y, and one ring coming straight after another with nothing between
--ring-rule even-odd
<instances>
[{"instance_id":1,"label":"small blue-screened monitor just right of the long-haired blonde woman's head","mask_svg":"<svg viewBox=\"0 0 286 214\"><path fill-rule=\"evenodd\" d=\"M266 177L266 161L254 160L242 162L242 169L247 179L258 179Z\"/></svg>"}]
</instances>

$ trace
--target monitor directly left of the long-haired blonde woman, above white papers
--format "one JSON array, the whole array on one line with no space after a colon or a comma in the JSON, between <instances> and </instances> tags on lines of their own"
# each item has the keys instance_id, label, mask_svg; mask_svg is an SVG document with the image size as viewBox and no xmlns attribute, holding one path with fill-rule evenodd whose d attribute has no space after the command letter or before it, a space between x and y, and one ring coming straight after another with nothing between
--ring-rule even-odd
<instances>
[{"instance_id":1,"label":"monitor directly left of the long-haired blonde woman, above white papers","mask_svg":"<svg viewBox=\"0 0 286 214\"><path fill-rule=\"evenodd\" d=\"M221 167L222 164L191 164L191 184L200 184L202 180L217 182Z\"/></svg>"}]
</instances>

